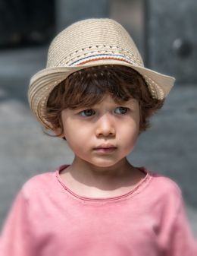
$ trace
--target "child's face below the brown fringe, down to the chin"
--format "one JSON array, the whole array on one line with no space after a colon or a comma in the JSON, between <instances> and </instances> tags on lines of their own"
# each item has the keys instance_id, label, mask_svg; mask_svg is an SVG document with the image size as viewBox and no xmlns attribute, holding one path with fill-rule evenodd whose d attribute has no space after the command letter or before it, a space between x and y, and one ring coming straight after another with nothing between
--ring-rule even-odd
<instances>
[{"instance_id":1,"label":"child's face below the brown fringe, down to the chin","mask_svg":"<svg viewBox=\"0 0 197 256\"><path fill-rule=\"evenodd\" d=\"M64 136L70 149L84 163L113 166L127 156L139 134L139 103L115 103L105 96L91 108L64 109Z\"/></svg>"}]
</instances>

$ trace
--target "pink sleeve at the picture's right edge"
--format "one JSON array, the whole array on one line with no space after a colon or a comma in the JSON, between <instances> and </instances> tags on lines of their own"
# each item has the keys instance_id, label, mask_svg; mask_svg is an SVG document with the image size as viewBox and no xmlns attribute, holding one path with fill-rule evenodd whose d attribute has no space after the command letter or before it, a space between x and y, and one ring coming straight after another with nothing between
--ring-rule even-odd
<instances>
[{"instance_id":1,"label":"pink sleeve at the picture's right edge","mask_svg":"<svg viewBox=\"0 0 197 256\"><path fill-rule=\"evenodd\" d=\"M169 256L197 256L197 239L189 226L182 197L171 229Z\"/></svg>"}]
</instances>

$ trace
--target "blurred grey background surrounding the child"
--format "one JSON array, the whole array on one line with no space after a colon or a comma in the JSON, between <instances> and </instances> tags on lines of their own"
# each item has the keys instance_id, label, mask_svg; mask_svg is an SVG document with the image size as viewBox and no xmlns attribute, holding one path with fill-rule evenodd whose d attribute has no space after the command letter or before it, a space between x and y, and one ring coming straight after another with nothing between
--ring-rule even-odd
<instances>
[{"instance_id":1,"label":"blurred grey background surrounding the child","mask_svg":"<svg viewBox=\"0 0 197 256\"><path fill-rule=\"evenodd\" d=\"M197 235L196 14L195 0L0 1L0 226L27 179L73 160L65 142L45 135L31 114L30 77L45 68L49 43L64 27L111 17L133 37L146 67L177 78L129 160L180 185Z\"/></svg>"}]
</instances>

